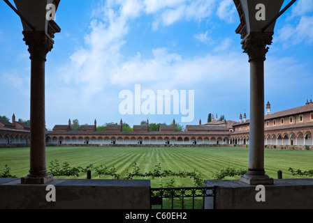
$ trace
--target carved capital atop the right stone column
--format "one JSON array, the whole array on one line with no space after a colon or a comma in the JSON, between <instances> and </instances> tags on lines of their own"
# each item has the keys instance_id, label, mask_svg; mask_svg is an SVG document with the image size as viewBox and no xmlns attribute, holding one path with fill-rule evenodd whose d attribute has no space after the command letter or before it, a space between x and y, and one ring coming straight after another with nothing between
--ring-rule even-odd
<instances>
[{"instance_id":1,"label":"carved capital atop the right stone column","mask_svg":"<svg viewBox=\"0 0 313 223\"><path fill-rule=\"evenodd\" d=\"M267 45L272 44L273 33L249 33L249 35L242 40L242 49L244 53L249 56L249 62L254 59L263 59L265 61L265 54L268 52Z\"/></svg>"}]
</instances>

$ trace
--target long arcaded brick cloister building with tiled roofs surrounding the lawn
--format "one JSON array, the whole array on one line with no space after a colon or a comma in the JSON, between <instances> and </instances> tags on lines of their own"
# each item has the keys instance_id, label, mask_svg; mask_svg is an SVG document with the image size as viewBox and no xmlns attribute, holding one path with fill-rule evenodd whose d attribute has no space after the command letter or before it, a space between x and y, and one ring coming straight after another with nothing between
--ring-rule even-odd
<instances>
[{"instance_id":1,"label":"long arcaded brick cloister building with tiled roofs surrounding the lawn","mask_svg":"<svg viewBox=\"0 0 313 223\"><path fill-rule=\"evenodd\" d=\"M277 146L313 145L313 102L281 112L270 112L270 103L266 105L264 118L264 144ZM175 131L173 125L161 125L159 131L149 131L146 125L133 125L133 131L122 130L119 125L107 125L105 131L96 130L94 125L80 125L78 131L71 129L71 120L67 125L54 125L52 131L46 131L46 144L97 144L105 145L249 145L249 119L240 114L239 121L218 121L212 118L210 123L186 125L184 131ZM0 146L10 144L29 144L30 127L24 123L0 119Z\"/></svg>"}]
</instances>

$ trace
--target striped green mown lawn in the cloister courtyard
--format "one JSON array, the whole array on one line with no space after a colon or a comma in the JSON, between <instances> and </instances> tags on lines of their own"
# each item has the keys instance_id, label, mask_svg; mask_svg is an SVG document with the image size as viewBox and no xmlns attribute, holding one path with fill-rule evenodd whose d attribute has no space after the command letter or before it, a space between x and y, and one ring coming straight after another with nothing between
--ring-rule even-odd
<instances>
[{"instance_id":1,"label":"striped green mown lawn in the cloister courtyard","mask_svg":"<svg viewBox=\"0 0 313 223\"><path fill-rule=\"evenodd\" d=\"M49 171L50 162L59 160L59 163L68 162L70 167L115 167L120 176L131 171L136 162L140 172L153 171L155 165L161 163L161 171L198 171L204 180L213 179L216 171L222 168L234 167L247 169L248 148L239 147L47 147L46 160ZM29 148L0 148L0 169L4 165L10 167L10 174L23 177L29 170ZM296 151L265 148L265 171L272 178L277 178L277 170L282 170L283 178L300 178L292 176L288 170L313 169L313 151ZM74 177L60 177L74 178ZM86 178L80 174L79 178ZM92 170L92 178L95 171ZM110 178L110 177L102 177ZM239 176L226 179L239 179ZM175 186L194 186L190 178L155 178L152 187L159 187L166 180L175 180Z\"/></svg>"}]
</instances>

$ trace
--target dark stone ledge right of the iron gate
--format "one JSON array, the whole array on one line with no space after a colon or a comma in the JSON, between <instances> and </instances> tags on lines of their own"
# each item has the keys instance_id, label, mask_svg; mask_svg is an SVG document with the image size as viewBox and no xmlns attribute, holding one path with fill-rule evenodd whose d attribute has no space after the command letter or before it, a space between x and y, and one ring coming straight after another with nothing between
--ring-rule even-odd
<instances>
[{"instance_id":1,"label":"dark stone ledge right of the iron gate","mask_svg":"<svg viewBox=\"0 0 313 223\"><path fill-rule=\"evenodd\" d=\"M205 207L215 209L312 209L313 179L275 179L264 185L265 201L256 201L256 185L240 180L205 180L216 187L214 199L206 198Z\"/></svg>"}]
</instances>

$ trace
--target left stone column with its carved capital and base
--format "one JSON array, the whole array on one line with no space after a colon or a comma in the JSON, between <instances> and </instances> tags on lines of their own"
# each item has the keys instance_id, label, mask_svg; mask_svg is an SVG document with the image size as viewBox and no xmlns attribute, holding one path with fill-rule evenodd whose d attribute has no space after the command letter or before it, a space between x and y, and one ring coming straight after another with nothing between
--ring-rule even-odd
<instances>
[{"instance_id":1,"label":"left stone column with its carved capital and base","mask_svg":"<svg viewBox=\"0 0 313 223\"><path fill-rule=\"evenodd\" d=\"M30 169L23 184L43 184L53 180L45 164L45 61L54 41L45 31L23 31L31 59Z\"/></svg>"}]
</instances>

